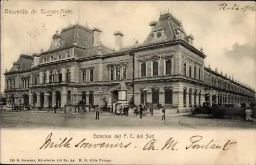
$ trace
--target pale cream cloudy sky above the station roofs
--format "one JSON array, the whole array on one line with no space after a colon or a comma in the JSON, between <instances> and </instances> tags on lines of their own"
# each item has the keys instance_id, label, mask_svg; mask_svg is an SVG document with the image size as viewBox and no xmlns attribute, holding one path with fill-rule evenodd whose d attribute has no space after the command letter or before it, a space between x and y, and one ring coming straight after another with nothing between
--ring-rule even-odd
<instances>
[{"instance_id":1,"label":"pale cream cloudy sky above the station roofs","mask_svg":"<svg viewBox=\"0 0 256 165\"><path fill-rule=\"evenodd\" d=\"M193 34L194 45L205 55L205 66L210 64L223 74L256 88L256 11L220 10L251 6L253 2L200 1L1 1L1 91L4 75L20 54L47 51L51 37L70 23L97 27L103 44L114 48L113 33L124 34L123 44L142 43L151 31L148 25L158 20L160 12L170 11L181 20L187 34ZM27 10L27 14L8 14L6 11ZM47 14L41 11L71 10L71 13ZM32 10L37 13L31 14Z\"/></svg>"}]
</instances>

